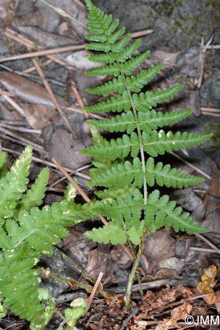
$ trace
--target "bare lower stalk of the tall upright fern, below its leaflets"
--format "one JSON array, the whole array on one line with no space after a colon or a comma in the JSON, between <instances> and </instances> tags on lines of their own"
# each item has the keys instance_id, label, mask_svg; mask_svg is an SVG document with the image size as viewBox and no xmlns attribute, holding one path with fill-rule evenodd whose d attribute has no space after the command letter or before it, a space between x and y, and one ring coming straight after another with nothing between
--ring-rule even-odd
<instances>
[{"instance_id":1,"label":"bare lower stalk of the tall upright fern, below its leaflets","mask_svg":"<svg viewBox=\"0 0 220 330\"><path fill-rule=\"evenodd\" d=\"M126 298L125 298L125 308L126 308L126 310L128 310L130 308L131 289L132 289L132 285L133 285L134 280L135 280L135 275L136 275L136 272L137 272L137 268L138 268L138 265L139 265L139 262L140 262L141 255L144 251L144 242L145 242L145 236L144 236L144 238L141 239L141 243L139 245L138 252L137 252L136 258L134 260L131 273L130 273L129 278L128 278L128 285L127 285ZM141 293L141 295L143 293L142 287L140 289L140 293Z\"/></svg>"}]
</instances>

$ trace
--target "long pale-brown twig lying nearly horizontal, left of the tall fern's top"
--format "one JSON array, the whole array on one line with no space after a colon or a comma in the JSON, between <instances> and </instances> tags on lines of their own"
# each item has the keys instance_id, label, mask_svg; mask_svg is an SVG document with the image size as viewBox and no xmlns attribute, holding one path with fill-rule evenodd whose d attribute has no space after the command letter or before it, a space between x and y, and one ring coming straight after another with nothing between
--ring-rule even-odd
<instances>
[{"instance_id":1,"label":"long pale-brown twig lying nearly horizontal, left of the tall fern's top","mask_svg":"<svg viewBox=\"0 0 220 330\"><path fill-rule=\"evenodd\" d=\"M61 52L68 52L71 50L85 49L85 48L86 48L85 45L74 45L74 46L68 46L68 47L59 47L59 48L54 48L54 49L40 50L40 51L32 52L32 53L25 53L25 54L20 54L20 55L2 57L2 58L0 58L0 62L12 61L12 60L21 59L21 58L45 56L45 55L56 54L56 53L61 53Z\"/></svg>"}]
</instances>

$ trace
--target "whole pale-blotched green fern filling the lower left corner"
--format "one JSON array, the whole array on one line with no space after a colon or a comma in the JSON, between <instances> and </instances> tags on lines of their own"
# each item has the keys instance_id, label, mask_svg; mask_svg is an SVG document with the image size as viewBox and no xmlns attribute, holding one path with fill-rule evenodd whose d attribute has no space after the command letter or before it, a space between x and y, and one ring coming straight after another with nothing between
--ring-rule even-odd
<instances>
[{"instance_id":1,"label":"whole pale-blotched green fern filling the lower left corner","mask_svg":"<svg viewBox=\"0 0 220 330\"><path fill-rule=\"evenodd\" d=\"M68 234L65 226L96 214L74 203L76 189L71 185L61 203L39 209L49 169L43 169L27 189L31 155L27 147L6 174L6 154L0 153L0 299L5 308L26 318L31 330L41 330L53 316L55 304L44 302L34 266L42 253L51 255L53 245Z\"/></svg>"}]
</instances>

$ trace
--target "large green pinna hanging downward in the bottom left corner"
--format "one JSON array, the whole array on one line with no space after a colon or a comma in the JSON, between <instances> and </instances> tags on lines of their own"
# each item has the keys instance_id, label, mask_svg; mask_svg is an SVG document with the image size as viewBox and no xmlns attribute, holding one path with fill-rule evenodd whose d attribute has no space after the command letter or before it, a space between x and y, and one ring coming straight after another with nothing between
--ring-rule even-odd
<instances>
[{"instance_id":1,"label":"large green pinna hanging downward in the bottom left corner","mask_svg":"<svg viewBox=\"0 0 220 330\"><path fill-rule=\"evenodd\" d=\"M30 328L43 330L44 305L38 298L39 281L36 276L38 271L32 269L35 263L35 254L25 245L16 250L5 251L4 255L1 254L0 296L5 298L6 308L10 307L16 315L31 322Z\"/></svg>"}]
</instances>

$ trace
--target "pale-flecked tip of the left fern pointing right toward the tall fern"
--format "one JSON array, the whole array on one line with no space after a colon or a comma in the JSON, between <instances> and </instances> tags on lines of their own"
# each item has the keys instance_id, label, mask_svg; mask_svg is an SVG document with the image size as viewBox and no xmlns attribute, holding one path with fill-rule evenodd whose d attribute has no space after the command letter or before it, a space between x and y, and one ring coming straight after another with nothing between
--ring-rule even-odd
<instances>
[{"instance_id":1,"label":"pale-flecked tip of the left fern pointing right toward the tall fern","mask_svg":"<svg viewBox=\"0 0 220 330\"><path fill-rule=\"evenodd\" d=\"M14 230L8 230L17 248L23 241L34 247L35 251L51 255L53 252L52 245L57 244L60 239L68 234L66 226L77 224L85 218L94 216L94 212L86 209L85 205L77 205L75 203L53 203L51 206L46 205L41 210L32 208L30 212L20 211L18 214L19 227ZM6 226L10 220L6 221Z\"/></svg>"}]
</instances>

